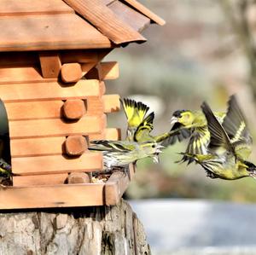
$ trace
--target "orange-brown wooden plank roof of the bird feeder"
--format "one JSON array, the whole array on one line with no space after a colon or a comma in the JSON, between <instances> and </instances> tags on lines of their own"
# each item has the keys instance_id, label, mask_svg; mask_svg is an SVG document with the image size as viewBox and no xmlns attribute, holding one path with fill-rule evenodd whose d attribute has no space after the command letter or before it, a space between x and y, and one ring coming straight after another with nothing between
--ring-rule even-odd
<instances>
[{"instance_id":1,"label":"orange-brown wooden plank roof of the bird feeder","mask_svg":"<svg viewBox=\"0 0 256 255\"><path fill-rule=\"evenodd\" d=\"M113 48L165 21L135 0L0 0L0 51Z\"/></svg>"}]
</instances>

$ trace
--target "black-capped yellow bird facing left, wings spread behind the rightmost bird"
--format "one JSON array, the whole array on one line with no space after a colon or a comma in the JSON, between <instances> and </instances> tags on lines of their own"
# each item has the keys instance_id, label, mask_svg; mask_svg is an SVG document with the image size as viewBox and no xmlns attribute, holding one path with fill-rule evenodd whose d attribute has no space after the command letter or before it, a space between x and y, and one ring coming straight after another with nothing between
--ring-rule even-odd
<instances>
[{"instance_id":1,"label":"black-capped yellow bird facing left, wings spread behind the rightmost bird","mask_svg":"<svg viewBox=\"0 0 256 255\"><path fill-rule=\"evenodd\" d=\"M236 146L237 153L240 150L243 159L247 159L252 151L252 138L247 130L246 120L238 106L236 96L230 96L227 113L215 112L214 116L220 124L224 123L224 130L230 137L230 142L239 143L239 147ZM181 142L183 139L189 138L185 154L207 154L210 133L207 127L207 119L201 111L178 110L172 114L171 123L174 124L171 132L177 130L177 134L167 138L162 145L169 146L177 141ZM242 134L247 136L244 136L241 142ZM189 164L193 159L183 155L181 161L188 161Z\"/></svg>"}]
</instances>

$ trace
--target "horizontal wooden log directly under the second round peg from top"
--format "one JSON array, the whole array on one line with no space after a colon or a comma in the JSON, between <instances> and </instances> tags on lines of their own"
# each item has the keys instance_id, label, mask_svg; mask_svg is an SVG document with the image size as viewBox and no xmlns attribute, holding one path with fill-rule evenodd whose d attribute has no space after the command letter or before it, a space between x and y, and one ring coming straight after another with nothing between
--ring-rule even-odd
<instances>
[{"instance_id":1,"label":"horizontal wooden log directly under the second round peg from top","mask_svg":"<svg viewBox=\"0 0 256 255\"><path fill-rule=\"evenodd\" d=\"M85 116L73 123L67 123L61 119L9 121L9 136L10 139L40 136L85 136L99 133L105 126L106 117L104 116Z\"/></svg>"}]
</instances>

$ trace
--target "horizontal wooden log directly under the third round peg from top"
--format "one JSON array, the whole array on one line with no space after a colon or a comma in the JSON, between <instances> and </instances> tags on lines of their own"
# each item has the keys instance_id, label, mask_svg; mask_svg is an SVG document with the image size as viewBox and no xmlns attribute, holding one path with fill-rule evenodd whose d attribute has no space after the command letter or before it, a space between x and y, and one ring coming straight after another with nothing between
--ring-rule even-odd
<instances>
[{"instance_id":1,"label":"horizontal wooden log directly under the third round peg from top","mask_svg":"<svg viewBox=\"0 0 256 255\"><path fill-rule=\"evenodd\" d=\"M68 159L62 155L12 159L12 171L18 175L100 170L102 170L101 153L88 152L75 159Z\"/></svg>"}]
</instances>

